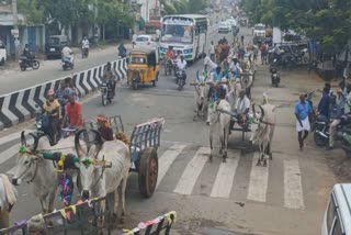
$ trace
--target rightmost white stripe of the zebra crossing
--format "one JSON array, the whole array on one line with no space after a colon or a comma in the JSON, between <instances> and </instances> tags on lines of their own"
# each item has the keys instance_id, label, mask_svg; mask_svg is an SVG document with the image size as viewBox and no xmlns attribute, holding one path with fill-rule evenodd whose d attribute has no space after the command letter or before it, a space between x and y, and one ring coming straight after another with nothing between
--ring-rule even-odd
<instances>
[{"instance_id":1,"label":"rightmost white stripe of the zebra crossing","mask_svg":"<svg viewBox=\"0 0 351 235\"><path fill-rule=\"evenodd\" d=\"M284 159L284 206L304 209L303 187L297 158Z\"/></svg>"}]
</instances>

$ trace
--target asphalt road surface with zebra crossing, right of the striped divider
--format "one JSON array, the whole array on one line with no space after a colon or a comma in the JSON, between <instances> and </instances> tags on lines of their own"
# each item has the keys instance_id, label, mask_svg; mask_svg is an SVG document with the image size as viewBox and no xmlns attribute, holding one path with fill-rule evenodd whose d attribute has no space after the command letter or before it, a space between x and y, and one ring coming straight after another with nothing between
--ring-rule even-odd
<instances>
[{"instance_id":1,"label":"asphalt road surface with zebra crossing, right of the striped divider","mask_svg":"<svg viewBox=\"0 0 351 235\"><path fill-rule=\"evenodd\" d=\"M247 36L249 32L241 30ZM213 40L219 36L223 35L215 34ZM199 69L203 69L202 61L188 69L188 82ZM310 139L304 152L297 150L293 116L297 94L320 87L318 82L303 71L282 72L281 87L272 88L268 68L259 66L252 99L261 102L262 93L267 92L270 102L278 105L279 116L273 160L267 168L256 166L257 154L247 150L247 142L241 142L239 133L230 135L228 163L222 164L219 157L207 163L208 127L193 119L194 90L186 86L178 91L173 77L161 76L156 88L144 86L137 91L122 83L109 107L101 105L99 94L88 99L83 104L84 119L100 113L120 114L128 133L136 123L152 118L166 119L158 150L157 191L152 198L141 199L137 177L132 175L126 195L126 224L121 227L132 228L140 221L174 210L178 223L172 234L234 234L228 231L320 234L322 213L335 178L322 158L326 153L317 149ZM13 172L15 158L12 156L19 144L15 135L0 137L0 172ZM18 189L20 198L11 213L12 222L41 211L31 186Z\"/></svg>"}]
</instances>

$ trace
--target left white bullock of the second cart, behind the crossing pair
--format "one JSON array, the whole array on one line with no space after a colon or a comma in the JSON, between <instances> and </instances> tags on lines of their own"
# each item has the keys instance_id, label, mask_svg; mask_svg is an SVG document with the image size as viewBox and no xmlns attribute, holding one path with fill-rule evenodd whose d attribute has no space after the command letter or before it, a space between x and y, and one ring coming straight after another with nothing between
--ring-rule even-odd
<instances>
[{"instance_id":1,"label":"left white bullock of the second cart, behind the crossing pair","mask_svg":"<svg viewBox=\"0 0 351 235\"><path fill-rule=\"evenodd\" d=\"M196 81L194 85L195 88L195 109L197 118L205 118L206 109L208 107L208 92L210 87L206 85L207 75L199 76L199 71L196 72Z\"/></svg>"}]
</instances>

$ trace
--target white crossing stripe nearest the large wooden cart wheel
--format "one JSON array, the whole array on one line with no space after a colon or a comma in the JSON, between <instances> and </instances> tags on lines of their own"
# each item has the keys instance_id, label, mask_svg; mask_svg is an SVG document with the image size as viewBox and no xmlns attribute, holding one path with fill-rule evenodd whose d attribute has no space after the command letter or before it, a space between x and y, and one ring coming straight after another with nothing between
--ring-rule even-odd
<instances>
[{"instance_id":1,"label":"white crossing stripe nearest the large wooden cart wheel","mask_svg":"<svg viewBox=\"0 0 351 235\"><path fill-rule=\"evenodd\" d=\"M172 163L176 160L178 155L186 147L186 145L173 145L168 150L166 150L162 156L158 160L158 179L156 189L162 181L163 177L166 176L167 171L169 170Z\"/></svg>"}]
</instances>

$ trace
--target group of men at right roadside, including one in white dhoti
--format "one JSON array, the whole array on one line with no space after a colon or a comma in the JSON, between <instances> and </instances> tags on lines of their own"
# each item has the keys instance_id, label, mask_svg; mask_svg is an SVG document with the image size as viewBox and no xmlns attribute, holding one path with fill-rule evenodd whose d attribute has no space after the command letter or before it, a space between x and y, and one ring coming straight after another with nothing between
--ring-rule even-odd
<instances>
[{"instance_id":1,"label":"group of men at right roadside, including one in white dhoti","mask_svg":"<svg viewBox=\"0 0 351 235\"><path fill-rule=\"evenodd\" d=\"M306 94L301 94L299 101L295 104L296 131L298 133L299 148L303 149L304 141L310 131L310 121L314 115L318 120L329 123L329 146L333 148L335 135L337 126L341 122L341 116L349 113L351 110L351 85L346 85L344 81L339 82L337 94L331 90L329 82L325 83L320 101L317 105L317 112L314 113L313 107L306 101Z\"/></svg>"}]
</instances>

